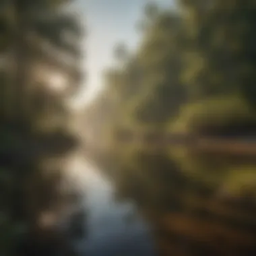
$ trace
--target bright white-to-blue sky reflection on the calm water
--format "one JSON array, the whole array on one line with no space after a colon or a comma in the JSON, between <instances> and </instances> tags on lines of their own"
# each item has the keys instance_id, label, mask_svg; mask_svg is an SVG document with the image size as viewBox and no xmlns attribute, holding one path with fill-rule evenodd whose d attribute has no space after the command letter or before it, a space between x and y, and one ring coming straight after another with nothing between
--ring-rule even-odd
<instances>
[{"instance_id":1,"label":"bright white-to-blue sky reflection on the calm water","mask_svg":"<svg viewBox=\"0 0 256 256\"><path fill-rule=\"evenodd\" d=\"M86 212L85 234L74 239L78 255L155 255L149 227L133 203L117 203L110 181L86 158L75 158L71 168L80 177Z\"/></svg>"}]
</instances>

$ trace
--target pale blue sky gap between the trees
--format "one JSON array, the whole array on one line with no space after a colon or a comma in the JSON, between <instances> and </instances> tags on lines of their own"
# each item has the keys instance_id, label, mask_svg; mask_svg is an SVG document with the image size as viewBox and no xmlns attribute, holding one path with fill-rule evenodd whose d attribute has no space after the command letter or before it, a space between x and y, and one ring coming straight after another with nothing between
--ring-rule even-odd
<instances>
[{"instance_id":1,"label":"pale blue sky gap between the trees","mask_svg":"<svg viewBox=\"0 0 256 256\"><path fill-rule=\"evenodd\" d=\"M143 6L149 0L77 0L76 7L86 24L84 63L86 79L82 92L75 100L77 107L88 104L104 85L101 73L113 64L113 48L125 42L135 49L139 33L135 24L141 18ZM173 0L155 0L160 6L171 6Z\"/></svg>"}]
</instances>

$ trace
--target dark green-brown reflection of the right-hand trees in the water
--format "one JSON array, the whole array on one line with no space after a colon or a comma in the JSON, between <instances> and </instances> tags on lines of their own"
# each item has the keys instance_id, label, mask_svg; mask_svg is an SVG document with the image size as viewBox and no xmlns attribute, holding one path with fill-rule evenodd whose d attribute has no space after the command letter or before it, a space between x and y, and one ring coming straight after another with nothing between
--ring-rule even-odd
<instances>
[{"instance_id":1,"label":"dark green-brown reflection of the right-hand trees in the water","mask_svg":"<svg viewBox=\"0 0 256 256\"><path fill-rule=\"evenodd\" d=\"M160 255L256 255L255 159L181 147L116 157L117 197L135 201Z\"/></svg>"}]
</instances>

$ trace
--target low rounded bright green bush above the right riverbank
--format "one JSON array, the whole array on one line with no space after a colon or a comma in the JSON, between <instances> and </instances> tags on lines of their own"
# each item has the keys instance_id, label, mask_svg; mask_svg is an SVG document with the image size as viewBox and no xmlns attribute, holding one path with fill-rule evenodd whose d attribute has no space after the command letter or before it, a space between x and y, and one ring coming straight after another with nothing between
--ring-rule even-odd
<instances>
[{"instance_id":1,"label":"low rounded bright green bush above the right riverbank","mask_svg":"<svg viewBox=\"0 0 256 256\"><path fill-rule=\"evenodd\" d=\"M220 96L187 104L170 131L181 133L221 132L225 127L255 125L256 115L246 100L238 96Z\"/></svg>"}]
</instances>

